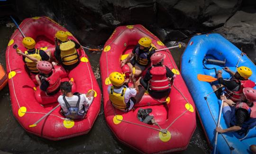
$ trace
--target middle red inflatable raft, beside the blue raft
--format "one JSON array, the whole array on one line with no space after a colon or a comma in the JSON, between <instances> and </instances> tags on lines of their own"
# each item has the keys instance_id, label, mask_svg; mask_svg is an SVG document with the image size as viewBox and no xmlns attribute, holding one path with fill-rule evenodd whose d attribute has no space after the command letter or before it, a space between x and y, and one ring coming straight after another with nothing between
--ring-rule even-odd
<instances>
[{"instance_id":1,"label":"middle red inflatable raft, beside the blue raft","mask_svg":"<svg viewBox=\"0 0 256 154\"><path fill-rule=\"evenodd\" d=\"M166 48L142 25L117 27L104 46L100 66L106 121L119 141L141 153L183 151L187 148L196 128L195 106L169 50L160 52L166 55L165 66L177 76L166 102L154 100L145 93L135 109L128 112L115 109L110 103L107 91L110 73L122 72L121 59L130 53L138 40L144 36L152 39L156 49ZM147 108L152 109L150 115L154 116L158 126L148 125L137 119L138 110Z\"/></svg>"}]
</instances>

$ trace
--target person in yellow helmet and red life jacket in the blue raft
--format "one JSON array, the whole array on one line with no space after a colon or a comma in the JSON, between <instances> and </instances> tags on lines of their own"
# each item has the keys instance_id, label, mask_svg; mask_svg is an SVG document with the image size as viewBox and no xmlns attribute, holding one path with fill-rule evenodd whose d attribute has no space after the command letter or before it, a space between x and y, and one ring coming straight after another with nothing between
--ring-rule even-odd
<instances>
[{"instance_id":1,"label":"person in yellow helmet and red life jacket in the blue raft","mask_svg":"<svg viewBox=\"0 0 256 154\"><path fill-rule=\"evenodd\" d=\"M226 72L232 76L231 80L223 80L222 71L217 71L217 78L219 84L222 84L225 87L225 91L227 92L227 97L234 102L243 101L245 97L243 95L243 88L246 87L255 87L255 83L250 81L248 78L252 75L252 71L250 68L245 66L240 66L237 68L237 72L233 72L229 69L229 67L224 67ZM217 85L212 85L213 90L219 88ZM215 92L217 97L219 98L221 95L221 89Z\"/></svg>"}]
</instances>

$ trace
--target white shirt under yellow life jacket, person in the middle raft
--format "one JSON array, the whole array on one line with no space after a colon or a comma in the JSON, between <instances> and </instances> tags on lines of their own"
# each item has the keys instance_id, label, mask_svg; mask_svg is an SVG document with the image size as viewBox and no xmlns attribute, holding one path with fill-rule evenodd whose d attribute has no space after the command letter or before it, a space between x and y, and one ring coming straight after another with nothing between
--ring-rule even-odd
<instances>
[{"instance_id":1,"label":"white shirt under yellow life jacket, person in the middle raft","mask_svg":"<svg viewBox=\"0 0 256 154\"><path fill-rule=\"evenodd\" d=\"M110 88L111 88L111 85L108 87L108 93L110 93ZM122 90L123 90L123 87L121 87L119 89L114 88L114 92L116 92L116 93L121 93ZM125 95L124 95L125 103L128 103L130 98L135 97L136 94L137 94L137 91L135 88L126 87L126 91L125 91ZM128 110L132 109L133 106L134 106L134 102L132 100L130 100L130 107Z\"/></svg>"}]
</instances>

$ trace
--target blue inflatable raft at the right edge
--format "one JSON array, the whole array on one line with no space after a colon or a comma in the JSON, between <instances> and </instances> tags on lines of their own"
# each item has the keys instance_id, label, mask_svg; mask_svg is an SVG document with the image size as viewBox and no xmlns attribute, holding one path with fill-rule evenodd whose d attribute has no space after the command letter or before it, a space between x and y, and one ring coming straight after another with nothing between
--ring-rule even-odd
<instances>
[{"instance_id":1,"label":"blue inflatable raft at the right edge","mask_svg":"<svg viewBox=\"0 0 256 154\"><path fill-rule=\"evenodd\" d=\"M218 64L205 63L205 59L217 60L215 62ZM235 45L219 34L192 37L183 53L181 64L183 79L196 104L201 123L211 145L214 143L220 100L211 88L214 83L199 81L197 75L205 74L216 78L213 68L222 69L224 65L220 63L221 61L225 61L225 66L234 72L239 66L251 68L253 75L249 79L256 82L255 64L246 54L242 54ZM222 72L224 79L230 78L229 73L224 70ZM223 115L221 115L220 127L227 128ZM250 129L246 136L236 137L235 135L236 133L219 134L217 144L219 154L250 154L249 146L256 145L256 127Z\"/></svg>"}]
</instances>

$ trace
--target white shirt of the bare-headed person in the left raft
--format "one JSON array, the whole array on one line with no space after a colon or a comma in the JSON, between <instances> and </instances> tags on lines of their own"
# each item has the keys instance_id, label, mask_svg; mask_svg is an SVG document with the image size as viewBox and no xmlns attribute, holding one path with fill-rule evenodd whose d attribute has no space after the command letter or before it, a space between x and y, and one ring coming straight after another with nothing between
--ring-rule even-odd
<instances>
[{"instance_id":1,"label":"white shirt of the bare-headed person in the left raft","mask_svg":"<svg viewBox=\"0 0 256 154\"><path fill-rule=\"evenodd\" d=\"M78 96L73 95L72 97L66 97L65 99L67 100L68 104L71 107L76 107L76 103L78 101ZM93 101L93 97L86 97L85 94L81 94L80 95L80 102L79 102L79 112L80 113L84 113L84 111L87 111L91 105ZM63 109L64 113L68 112L67 106L63 100L63 95L58 97L58 102L61 105L61 108ZM84 109L82 108L82 106L84 105Z\"/></svg>"}]
</instances>

